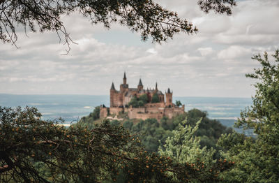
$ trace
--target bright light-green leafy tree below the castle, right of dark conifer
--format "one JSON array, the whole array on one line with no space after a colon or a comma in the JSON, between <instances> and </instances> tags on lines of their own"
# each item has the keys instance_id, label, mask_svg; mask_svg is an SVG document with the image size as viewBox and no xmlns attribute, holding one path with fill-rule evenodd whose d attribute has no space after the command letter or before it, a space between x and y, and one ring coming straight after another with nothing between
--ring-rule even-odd
<instances>
[{"instance_id":1,"label":"bright light-green leafy tree below the castle, right of dark conifer","mask_svg":"<svg viewBox=\"0 0 279 183\"><path fill-rule=\"evenodd\" d=\"M195 127L188 125L187 119L181 122L178 129L172 131L173 136L168 137L165 141L165 145L159 147L159 154L171 157L174 162L189 163L191 166L195 167L196 170L211 174L209 175L212 177L211 181L217 181L218 174L220 173L220 169L217 167L222 166L222 163L226 163L227 160L214 160L213 155L216 151L213 148L206 149L206 147L202 148L199 145L200 140L195 136L195 133L201 122L202 119L199 119ZM227 170L232 165L232 161L228 161L227 167L222 169L222 171ZM171 175L173 179L176 180L177 175ZM203 177L197 177L197 179L194 178L192 180L192 182L206 181L206 178L203 179Z\"/></svg>"}]
</instances>

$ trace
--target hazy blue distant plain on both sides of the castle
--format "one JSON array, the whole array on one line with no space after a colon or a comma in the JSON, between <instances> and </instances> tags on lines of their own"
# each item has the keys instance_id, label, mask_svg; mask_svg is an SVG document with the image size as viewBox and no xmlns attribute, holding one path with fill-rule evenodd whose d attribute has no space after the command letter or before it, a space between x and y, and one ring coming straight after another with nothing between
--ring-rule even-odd
<instances>
[{"instance_id":1,"label":"hazy blue distant plain on both sides of the castle","mask_svg":"<svg viewBox=\"0 0 279 183\"><path fill-rule=\"evenodd\" d=\"M186 111L197 108L208 113L209 118L218 119L225 126L233 126L241 110L251 105L251 98L219 98L219 97L175 97L186 105ZM43 119L61 117L66 124L77 122L89 115L94 107L110 105L107 95L13 95L0 94L0 106L25 107L33 106L42 113Z\"/></svg>"}]
</instances>

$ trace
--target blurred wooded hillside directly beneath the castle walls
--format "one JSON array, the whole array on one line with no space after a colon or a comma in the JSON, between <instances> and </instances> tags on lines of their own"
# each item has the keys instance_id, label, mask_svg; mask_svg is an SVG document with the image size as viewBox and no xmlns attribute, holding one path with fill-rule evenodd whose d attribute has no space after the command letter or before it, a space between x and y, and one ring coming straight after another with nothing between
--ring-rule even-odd
<instances>
[{"instance_id":1,"label":"blurred wooded hillside directly beneath the castle walls","mask_svg":"<svg viewBox=\"0 0 279 183\"><path fill-rule=\"evenodd\" d=\"M100 108L96 107L88 116L82 117L79 124L93 129L96 126L95 124L100 123L100 120L96 120L100 117L99 113ZM209 119L206 115L206 112L193 109L173 119L163 117L160 122L156 119L124 119L123 121L112 120L110 124L121 125L125 129L128 129L131 134L140 138L146 151L158 152L160 143L165 144L167 137L172 136L172 131L178 129L181 122L187 119L187 124L191 127L195 127L199 119L202 119L194 135L200 138L200 145L202 147L213 147L216 149L218 138L220 138L222 134L232 133L233 130L232 128L223 126L216 119ZM125 116L125 114L123 114L123 116Z\"/></svg>"}]
</instances>

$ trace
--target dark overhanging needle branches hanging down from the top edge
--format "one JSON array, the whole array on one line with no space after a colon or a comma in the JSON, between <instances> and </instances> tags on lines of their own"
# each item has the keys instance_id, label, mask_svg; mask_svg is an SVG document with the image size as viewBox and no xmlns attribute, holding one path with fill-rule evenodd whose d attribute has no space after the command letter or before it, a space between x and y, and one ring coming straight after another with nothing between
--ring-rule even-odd
<instances>
[{"instance_id":1,"label":"dark overhanging needle branches hanging down from the top edge","mask_svg":"<svg viewBox=\"0 0 279 183\"><path fill-rule=\"evenodd\" d=\"M232 13L235 0L199 0L204 12L215 10L216 13ZM62 34L66 43L72 40L61 21L61 15L79 12L89 17L92 24L102 23L110 28L112 22L127 26L131 31L138 31L142 40L151 37L155 42L167 41L180 31L192 34L197 29L188 20L181 19L177 13L167 10L153 0L43 0L43 1L8 1L0 0L0 39L15 45L17 26L25 30L40 32L56 31ZM27 32L27 31L26 31ZM60 38L60 36L59 36Z\"/></svg>"}]
</instances>

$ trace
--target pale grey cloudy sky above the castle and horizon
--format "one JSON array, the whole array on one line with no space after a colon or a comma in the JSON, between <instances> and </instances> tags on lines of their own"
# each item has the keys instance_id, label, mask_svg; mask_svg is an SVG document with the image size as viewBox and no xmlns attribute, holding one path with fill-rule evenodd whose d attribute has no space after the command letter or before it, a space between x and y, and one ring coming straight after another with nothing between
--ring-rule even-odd
<instances>
[{"instance_id":1,"label":"pale grey cloudy sky above the castle and horizon","mask_svg":"<svg viewBox=\"0 0 279 183\"><path fill-rule=\"evenodd\" d=\"M59 43L55 33L18 28L16 48L0 43L0 93L109 95L126 71L129 87L155 87L174 96L250 97L259 67L254 54L279 48L279 1L239 1L232 15L203 13L193 0L160 0L192 22L197 34L176 34L167 43L142 42L127 27L92 25L78 14L63 16L77 45Z\"/></svg>"}]
</instances>

